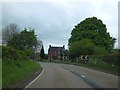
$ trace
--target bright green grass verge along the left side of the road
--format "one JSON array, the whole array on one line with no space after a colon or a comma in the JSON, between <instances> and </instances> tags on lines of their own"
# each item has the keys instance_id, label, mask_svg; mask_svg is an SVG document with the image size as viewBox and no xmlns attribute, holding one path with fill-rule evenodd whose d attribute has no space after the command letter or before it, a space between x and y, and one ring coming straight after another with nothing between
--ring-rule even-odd
<instances>
[{"instance_id":1,"label":"bright green grass verge along the left side of the road","mask_svg":"<svg viewBox=\"0 0 120 90\"><path fill-rule=\"evenodd\" d=\"M12 60L11 60L12 61ZM7 88L26 79L38 68L40 64L30 60L18 60L14 63L2 63L2 87Z\"/></svg>"}]
</instances>

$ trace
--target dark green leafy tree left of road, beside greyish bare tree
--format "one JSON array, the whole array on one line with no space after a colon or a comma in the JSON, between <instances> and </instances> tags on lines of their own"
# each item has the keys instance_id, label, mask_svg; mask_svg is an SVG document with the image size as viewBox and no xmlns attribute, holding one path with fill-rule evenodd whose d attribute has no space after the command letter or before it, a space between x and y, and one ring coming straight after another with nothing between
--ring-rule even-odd
<instances>
[{"instance_id":1,"label":"dark green leafy tree left of road, beside greyish bare tree","mask_svg":"<svg viewBox=\"0 0 120 90\"><path fill-rule=\"evenodd\" d=\"M26 52L26 54L32 58L35 55L37 37L34 30L28 31L25 28L19 34L14 34L7 45Z\"/></svg>"}]
</instances>

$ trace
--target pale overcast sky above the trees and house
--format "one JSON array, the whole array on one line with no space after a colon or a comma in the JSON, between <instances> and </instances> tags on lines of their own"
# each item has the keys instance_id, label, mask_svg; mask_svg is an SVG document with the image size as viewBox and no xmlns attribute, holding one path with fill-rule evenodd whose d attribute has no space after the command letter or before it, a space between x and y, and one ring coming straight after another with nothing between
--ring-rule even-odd
<instances>
[{"instance_id":1,"label":"pale overcast sky above the trees and house","mask_svg":"<svg viewBox=\"0 0 120 90\"><path fill-rule=\"evenodd\" d=\"M5 0L9 1L9 0ZM25 0L24 0L25 1ZM2 3L2 28L16 23L21 29L35 29L43 41L45 52L49 45L67 48L74 27L88 17L97 17L107 26L112 37L118 39L119 0L45 0ZM1 5L1 4L0 4ZM0 27L1 29L1 27ZM118 42L116 43L116 47Z\"/></svg>"}]
</instances>

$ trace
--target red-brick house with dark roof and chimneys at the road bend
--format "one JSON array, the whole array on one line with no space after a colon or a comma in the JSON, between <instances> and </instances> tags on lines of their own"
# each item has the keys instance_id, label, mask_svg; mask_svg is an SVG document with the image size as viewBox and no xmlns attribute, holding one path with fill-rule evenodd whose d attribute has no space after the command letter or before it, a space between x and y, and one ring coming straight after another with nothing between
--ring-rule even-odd
<instances>
[{"instance_id":1,"label":"red-brick house with dark roof and chimneys at the road bend","mask_svg":"<svg viewBox=\"0 0 120 90\"><path fill-rule=\"evenodd\" d=\"M49 45L48 49L48 59L64 59L65 45L63 47L55 47Z\"/></svg>"}]
</instances>

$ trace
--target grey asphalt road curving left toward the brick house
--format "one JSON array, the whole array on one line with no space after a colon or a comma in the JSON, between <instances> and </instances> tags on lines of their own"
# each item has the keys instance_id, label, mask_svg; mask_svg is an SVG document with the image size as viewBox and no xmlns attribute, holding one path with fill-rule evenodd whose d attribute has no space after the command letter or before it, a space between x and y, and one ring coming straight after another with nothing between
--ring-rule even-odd
<instances>
[{"instance_id":1,"label":"grey asphalt road curving left toward the brick house","mask_svg":"<svg viewBox=\"0 0 120 90\"><path fill-rule=\"evenodd\" d=\"M118 88L118 76L85 67L41 63L44 70L26 88Z\"/></svg>"}]
</instances>

